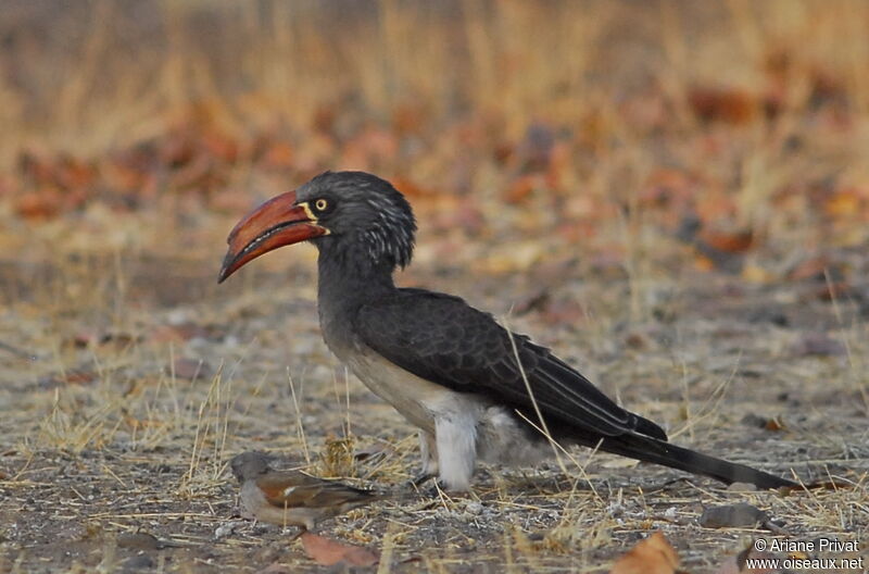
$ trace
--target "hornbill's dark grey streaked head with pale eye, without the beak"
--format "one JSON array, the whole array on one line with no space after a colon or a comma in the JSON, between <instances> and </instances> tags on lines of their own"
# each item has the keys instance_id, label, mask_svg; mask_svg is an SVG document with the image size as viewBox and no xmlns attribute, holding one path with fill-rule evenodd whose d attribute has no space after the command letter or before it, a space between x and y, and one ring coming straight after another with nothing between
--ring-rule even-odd
<instances>
[{"instance_id":1,"label":"hornbill's dark grey streaked head with pale eye, without the beak","mask_svg":"<svg viewBox=\"0 0 869 574\"><path fill-rule=\"evenodd\" d=\"M326 172L297 190L317 225L328 229L312 239L322 253L366 257L394 270L411 262L416 221L411 204L386 179L365 172Z\"/></svg>"}]
</instances>

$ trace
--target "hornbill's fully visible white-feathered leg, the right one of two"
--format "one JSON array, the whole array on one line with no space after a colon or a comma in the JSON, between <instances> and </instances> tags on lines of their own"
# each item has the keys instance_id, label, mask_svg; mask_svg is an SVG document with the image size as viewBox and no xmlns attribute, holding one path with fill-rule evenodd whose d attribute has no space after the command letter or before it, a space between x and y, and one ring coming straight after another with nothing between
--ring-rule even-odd
<instances>
[{"instance_id":1,"label":"hornbill's fully visible white-feathered leg, the right one of two","mask_svg":"<svg viewBox=\"0 0 869 574\"><path fill-rule=\"evenodd\" d=\"M438 416L434 437L440 482L448 490L468 490L477 462L477 420L462 411Z\"/></svg>"}]
</instances>

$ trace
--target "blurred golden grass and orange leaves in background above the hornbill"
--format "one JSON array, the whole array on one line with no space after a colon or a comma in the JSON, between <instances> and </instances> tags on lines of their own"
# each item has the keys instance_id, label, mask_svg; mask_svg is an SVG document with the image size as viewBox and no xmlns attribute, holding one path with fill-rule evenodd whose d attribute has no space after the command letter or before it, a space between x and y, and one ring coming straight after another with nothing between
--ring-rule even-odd
<instances>
[{"instance_id":1,"label":"blurred golden grass and orange leaves in background above the hornbill","mask_svg":"<svg viewBox=\"0 0 869 574\"><path fill-rule=\"evenodd\" d=\"M568 244L638 213L860 244L867 24L848 0L12 0L0 197L33 221L164 194L238 214L361 169L436 227L519 205L505 230Z\"/></svg>"}]
</instances>

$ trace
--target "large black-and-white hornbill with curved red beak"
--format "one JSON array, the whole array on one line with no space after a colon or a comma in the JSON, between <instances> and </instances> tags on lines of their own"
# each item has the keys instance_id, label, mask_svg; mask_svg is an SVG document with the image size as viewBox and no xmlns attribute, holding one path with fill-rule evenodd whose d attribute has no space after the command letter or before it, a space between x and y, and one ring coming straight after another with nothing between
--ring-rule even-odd
<instances>
[{"instance_id":1,"label":"large black-and-white hornbill with curved red beak","mask_svg":"<svg viewBox=\"0 0 869 574\"><path fill-rule=\"evenodd\" d=\"M411 262L415 232L410 203L389 182L326 172L236 225L218 280L273 249L313 242L326 345L419 428L420 478L439 476L450 490L469 488L477 459L532 463L553 452L550 439L728 484L797 486L667 442L657 424L458 297L395 287L392 274Z\"/></svg>"}]
</instances>

